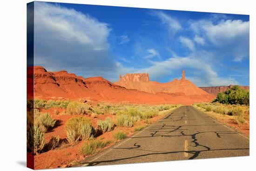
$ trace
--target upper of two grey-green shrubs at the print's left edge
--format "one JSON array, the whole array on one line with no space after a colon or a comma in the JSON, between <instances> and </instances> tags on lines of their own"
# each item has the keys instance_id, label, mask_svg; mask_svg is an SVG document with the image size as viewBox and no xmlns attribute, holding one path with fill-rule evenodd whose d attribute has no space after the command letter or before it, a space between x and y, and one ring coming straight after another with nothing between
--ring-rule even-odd
<instances>
[{"instance_id":1,"label":"upper of two grey-green shrubs at the print's left edge","mask_svg":"<svg viewBox=\"0 0 256 171\"><path fill-rule=\"evenodd\" d=\"M49 113L34 113L35 126L39 127L41 132L47 132L49 128L54 127L56 120L54 120Z\"/></svg>"}]
</instances>

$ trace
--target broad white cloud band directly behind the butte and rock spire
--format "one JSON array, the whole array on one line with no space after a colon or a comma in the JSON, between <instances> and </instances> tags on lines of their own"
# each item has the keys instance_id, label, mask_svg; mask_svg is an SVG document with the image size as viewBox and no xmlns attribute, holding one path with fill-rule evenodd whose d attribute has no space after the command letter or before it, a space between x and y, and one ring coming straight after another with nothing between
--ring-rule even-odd
<instances>
[{"instance_id":1,"label":"broad white cloud band directly behind the butte and rock spire","mask_svg":"<svg viewBox=\"0 0 256 171\"><path fill-rule=\"evenodd\" d=\"M211 56L207 52L193 53L187 57L168 58L162 61L150 61L149 67L135 68L125 67L118 63L117 72L124 73L149 73L151 80L171 76L174 72L181 72L183 68L190 69L186 72L186 78L197 86L236 85L238 82L231 77L219 77L214 71L214 66L202 57ZM195 58L199 57L199 58ZM189 77L189 76L190 77ZM116 79L115 79L116 80Z\"/></svg>"}]
</instances>

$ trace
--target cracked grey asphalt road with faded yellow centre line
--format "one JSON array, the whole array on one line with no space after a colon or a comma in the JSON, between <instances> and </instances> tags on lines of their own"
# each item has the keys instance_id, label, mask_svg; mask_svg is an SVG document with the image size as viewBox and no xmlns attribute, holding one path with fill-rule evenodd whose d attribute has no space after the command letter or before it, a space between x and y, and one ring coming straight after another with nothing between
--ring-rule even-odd
<instances>
[{"instance_id":1,"label":"cracked grey asphalt road with faded yellow centre line","mask_svg":"<svg viewBox=\"0 0 256 171\"><path fill-rule=\"evenodd\" d=\"M249 156L249 138L193 106L181 106L80 166L235 156Z\"/></svg>"}]
</instances>

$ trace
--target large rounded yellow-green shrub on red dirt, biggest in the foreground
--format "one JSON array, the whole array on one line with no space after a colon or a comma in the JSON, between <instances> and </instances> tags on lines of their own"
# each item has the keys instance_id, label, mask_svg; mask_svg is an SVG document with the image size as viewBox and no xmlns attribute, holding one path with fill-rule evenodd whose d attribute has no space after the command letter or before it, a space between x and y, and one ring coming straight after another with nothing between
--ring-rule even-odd
<instances>
[{"instance_id":1,"label":"large rounded yellow-green shrub on red dirt, biggest in the foreground","mask_svg":"<svg viewBox=\"0 0 256 171\"><path fill-rule=\"evenodd\" d=\"M67 141L73 144L81 139L89 139L94 136L94 129L90 120L83 117L70 118L65 125Z\"/></svg>"}]
</instances>

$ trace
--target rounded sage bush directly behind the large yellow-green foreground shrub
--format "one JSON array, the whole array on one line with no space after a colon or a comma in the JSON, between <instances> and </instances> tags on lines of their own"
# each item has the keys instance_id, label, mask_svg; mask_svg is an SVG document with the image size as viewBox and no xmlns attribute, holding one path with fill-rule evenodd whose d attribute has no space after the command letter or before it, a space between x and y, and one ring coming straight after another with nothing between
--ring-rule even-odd
<instances>
[{"instance_id":1,"label":"rounded sage bush directly behind the large yellow-green foreground shrub","mask_svg":"<svg viewBox=\"0 0 256 171\"><path fill-rule=\"evenodd\" d=\"M79 102L70 102L67 105L67 113L74 114L74 115L83 115L83 114L89 114L93 112L93 109L86 104L79 103Z\"/></svg>"}]
</instances>

